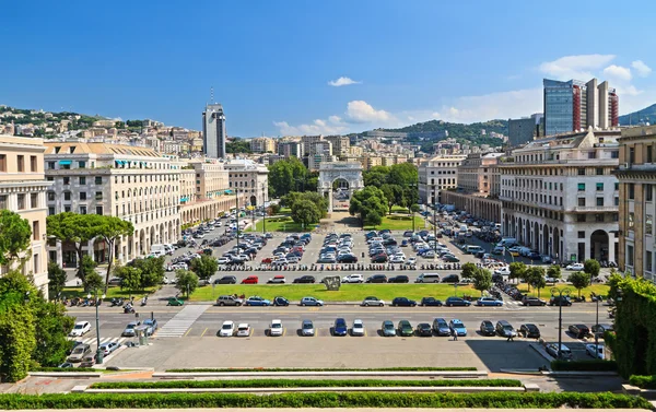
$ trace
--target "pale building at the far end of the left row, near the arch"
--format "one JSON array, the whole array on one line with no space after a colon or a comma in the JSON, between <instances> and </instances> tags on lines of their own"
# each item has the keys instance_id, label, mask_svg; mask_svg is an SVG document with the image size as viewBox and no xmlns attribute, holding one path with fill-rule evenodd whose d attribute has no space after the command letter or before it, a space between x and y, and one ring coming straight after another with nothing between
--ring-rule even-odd
<instances>
[{"instance_id":1,"label":"pale building at the far end of the left row, near the arch","mask_svg":"<svg viewBox=\"0 0 656 412\"><path fill-rule=\"evenodd\" d=\"M247 158L233 158L224 164L229 172L229 187L244 193L250 205L262 205L268 201L269 169Z\"/></svg>"}]
</instances>

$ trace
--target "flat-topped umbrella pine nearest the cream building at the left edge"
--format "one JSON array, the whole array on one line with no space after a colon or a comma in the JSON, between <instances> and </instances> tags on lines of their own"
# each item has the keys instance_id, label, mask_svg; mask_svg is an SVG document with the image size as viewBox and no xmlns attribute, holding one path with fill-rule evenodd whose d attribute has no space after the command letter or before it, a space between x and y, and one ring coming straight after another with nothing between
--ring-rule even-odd
<instances>
[{"instance_id":1,"label":"flat-topped umbrella pine nearest the cream building at the left edge","mask_svg":"<svg viewBox=\"0 0 656 412\"><path fill-rule=\"evenodd\" d=\"M90 240L98 235L98 215L97 214L78 214L63 212L52 214L47 217L46 232L48 236L56 238L60 243L70 242L75 248L78 255L78 264L82 264L83 250ZM84 282L84 272L78 270L78 278Z\"/></svg>"}]
</instances>

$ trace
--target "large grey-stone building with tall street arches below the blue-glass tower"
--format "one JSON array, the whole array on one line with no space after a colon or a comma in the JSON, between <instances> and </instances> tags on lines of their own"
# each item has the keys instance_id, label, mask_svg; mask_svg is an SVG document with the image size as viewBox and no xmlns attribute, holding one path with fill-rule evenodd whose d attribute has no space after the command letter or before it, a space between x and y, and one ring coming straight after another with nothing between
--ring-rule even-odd
<instances>
[{"instance_id":1,"label":"large grey-stone building with tall street arches below the blue-glass tower","mask_svg":"<svg viewBox=\"0 0 656 412\"><path fill-rule=\"evenodd\" d=\"M616 261L619 130L535 140L500 163L502 232L562 261Z\"/></svg>"}]
</instances>

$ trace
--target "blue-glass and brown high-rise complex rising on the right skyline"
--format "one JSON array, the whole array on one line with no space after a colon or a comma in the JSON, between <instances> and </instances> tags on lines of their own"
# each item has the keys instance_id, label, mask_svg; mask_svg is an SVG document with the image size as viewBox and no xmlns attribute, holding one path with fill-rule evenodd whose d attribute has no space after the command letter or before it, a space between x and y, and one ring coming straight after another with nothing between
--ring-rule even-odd
<instances>
[{"instance_id":1,"label":"blue-glass and brown high-rise complex rising on the right skyline","mask_svg":"<svg viewBox=\"0 0 656 412\"><path fill-rule=\"evenodd\" d=\"M619 99L608 82L543 80L544 134L619 126Z\"/></svg>"}]
</instances>

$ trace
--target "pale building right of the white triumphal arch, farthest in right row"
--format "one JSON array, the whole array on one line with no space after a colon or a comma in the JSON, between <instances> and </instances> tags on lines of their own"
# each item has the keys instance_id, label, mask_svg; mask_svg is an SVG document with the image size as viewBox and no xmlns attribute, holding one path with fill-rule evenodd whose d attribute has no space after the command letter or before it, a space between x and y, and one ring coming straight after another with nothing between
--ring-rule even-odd
<instances>
[{"instance_id":1,"label":"pale building right of the white triumphal arch, farthest in right row","mask_svg":"<svg viewBox=\"0 0 656 412\"><path fill-rule=\"evenodd\" d=\"M442 191L458 186L458 166L461 155L440 155L419 165L419 199L426 205L442 203Z\"/></svg>"}]
</instances>

